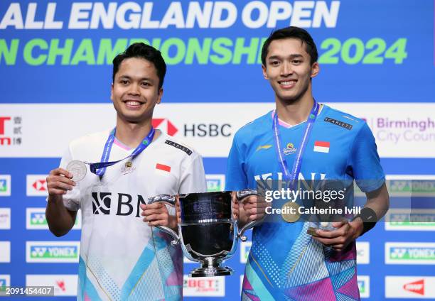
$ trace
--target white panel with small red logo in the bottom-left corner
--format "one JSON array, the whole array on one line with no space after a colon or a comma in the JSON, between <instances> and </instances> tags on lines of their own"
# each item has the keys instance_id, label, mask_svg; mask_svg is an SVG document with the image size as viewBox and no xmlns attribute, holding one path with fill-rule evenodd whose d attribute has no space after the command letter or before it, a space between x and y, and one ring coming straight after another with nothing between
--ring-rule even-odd
<instances>
[{"instance_id":1,"label":"white panel with small red logo in the bottom-left corner","mask_svg":"<svg viewBox=\"0 0 435 301\"><path fill-rule=\"evenodd\" d=\"M26 275L26 286L53 286L55 296L76 296L77 275Z\"/></svg>"}]
</instances>

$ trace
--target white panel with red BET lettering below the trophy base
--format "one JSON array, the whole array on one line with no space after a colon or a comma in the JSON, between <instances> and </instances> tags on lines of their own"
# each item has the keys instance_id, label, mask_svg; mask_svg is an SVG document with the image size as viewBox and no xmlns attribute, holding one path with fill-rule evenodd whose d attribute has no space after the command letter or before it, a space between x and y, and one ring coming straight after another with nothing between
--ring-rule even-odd
<instances>
[{"instance_id":1,"label":"white panel with red BET lettering below the trophy base","mask_svg":"<svg viewBox=\"0 0 435 301\"><path fill-rule=\"evenodd\" d=\"M225 297L225 276L183 278L184 297Z\"/></svg>"}]
</instances>

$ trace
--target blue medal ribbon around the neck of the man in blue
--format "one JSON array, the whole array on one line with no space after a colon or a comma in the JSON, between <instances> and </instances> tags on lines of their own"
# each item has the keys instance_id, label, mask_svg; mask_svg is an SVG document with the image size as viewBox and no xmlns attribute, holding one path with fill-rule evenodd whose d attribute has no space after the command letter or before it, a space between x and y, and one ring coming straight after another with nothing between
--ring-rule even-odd
<instances>
[{"instance_id":1,"label":"blue medal ribbon around the neck of the man in blue","mask_svg":"<svg viewBox=\"0 0 435 301\"><path fill-rule=\"evenodd\" d=\"M274 122L273 122L273 130L274 130L274 138L275 138L275 149L276 149L276 155L278 157L278 163L282 170L282 175L284 176L284 180L287 182L290 182L290 187L293 189L294 187L294 181L298 179L299 173L301 172L301 164L302 164L302 157L304 155L306 143L308 143L308 138L311 134L311 130L313 129L314 121L316 121L317 113L318 113L319 105L314 100L313 108L310 111L310 115L308 116L308 119L306 121L306 127L304 131L304 136L302 136L301 146L299 146L299 150L296 153L296 158L294 159L293 168L291 170L291 173L289 172L289 167L287 165L287 161L284 158L284 151L281 148L281 135L279 133L279 126L278 126L278 114L274 114Z\"/></svg>"}]
</instances>

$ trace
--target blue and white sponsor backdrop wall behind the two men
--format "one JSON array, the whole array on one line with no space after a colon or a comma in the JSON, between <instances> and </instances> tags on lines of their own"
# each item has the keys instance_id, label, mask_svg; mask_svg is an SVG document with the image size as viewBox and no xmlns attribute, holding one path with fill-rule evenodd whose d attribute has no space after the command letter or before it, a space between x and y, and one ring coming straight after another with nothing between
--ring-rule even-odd
<instances>
[{"instance_id":1,"label":"blue and white sponsor backdrop wall behind the two men","mask_svg":"<svg viewBox=\"0 0 435 301\"><path fill-rule=\"evenodd\" d=\"M114 126L114 55L134 41L161 50L168 74L154 126L196 148L208 189L224 190L235 131L274 107L263 40L289 25L318 45L316 99L367 121L394 179L388 222L358 241L361 297L435 299L435 211L414 207L410 223L400 202L407 179L434 201L424 181L435 170L431 0L1 1L0 289L53 285L74 299L80 219L68 235L50 234L45 177L68 141ZM249 248L241 243L227 261L231 277L186 276L186 300L236 300ZM186 262L185 273L196 266Z\"/></svg>"}]
</instances>

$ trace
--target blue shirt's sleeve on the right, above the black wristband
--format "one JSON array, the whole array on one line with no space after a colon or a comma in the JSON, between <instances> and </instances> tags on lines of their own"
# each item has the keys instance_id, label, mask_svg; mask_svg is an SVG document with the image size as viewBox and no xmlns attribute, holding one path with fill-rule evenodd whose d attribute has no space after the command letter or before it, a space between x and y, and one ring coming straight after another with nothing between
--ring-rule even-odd
<instances>
[{"instance_id":1,"label":"blue shirt's sleeve on the right, above the black wristband","mask_svg":"<svg viewBox=\"0 0 435 301\"><path fill-rule=\"evenodd\" d=\"M358 132L350 153L350 172L363 192L377 190L385 182L375 137L367 124Z\"/></svg>"}]
</instances>

